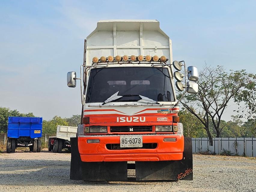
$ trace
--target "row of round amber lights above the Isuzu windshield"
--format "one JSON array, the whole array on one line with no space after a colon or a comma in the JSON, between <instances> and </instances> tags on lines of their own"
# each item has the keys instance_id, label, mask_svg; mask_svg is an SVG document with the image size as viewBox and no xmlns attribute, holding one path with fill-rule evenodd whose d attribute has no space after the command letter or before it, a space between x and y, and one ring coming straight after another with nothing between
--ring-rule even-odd
<instances>
[{"instance_id":1,"label":"row of round amber lights above the Isuzu windshield","mask_svg":"<svg viewBox=\"0 0 256 192\"><path fill-rule=\"evenodd\" d=\"M139 55L138 57L136 57L135 55L130 56L130 61L143 61L145 59L145 61L159 61L159 57L157 55L151 57L150 55L147 55L145 57L143 57L143 55ZM98 63L99 60L104 63L107 61L107 58L102 56L100 59L98 59L97 57L93 57L93 63ZM117 55L115 56L115 60L116 61L128 61L129 57L127 55L123 55L123 57ZM160 57L160 61L165 62L166 56L161 56ZM108 62L112 62L114 61L114 57L113 56L108 56Z\"/></svg>"}]
</instances>

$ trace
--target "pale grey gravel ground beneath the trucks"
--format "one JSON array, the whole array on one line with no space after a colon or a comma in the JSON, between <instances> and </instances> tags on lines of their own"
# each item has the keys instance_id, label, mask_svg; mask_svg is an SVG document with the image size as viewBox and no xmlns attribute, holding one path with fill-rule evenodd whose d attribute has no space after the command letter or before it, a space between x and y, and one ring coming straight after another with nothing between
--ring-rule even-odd
<instances>
[{"instance_id":1,"label":"pale grey gravel ground beneath the trucks","mask_svg":"<svg viewBox=\"0 0 256 192\"><path fill-rule=\"evenodd\" d=\"M0 154L0 191L256 191L256 158L194 155L194 180L137 182L128 170L128 182L84 182L69 179L68 153Z\"/></svg>"}]
</instances>

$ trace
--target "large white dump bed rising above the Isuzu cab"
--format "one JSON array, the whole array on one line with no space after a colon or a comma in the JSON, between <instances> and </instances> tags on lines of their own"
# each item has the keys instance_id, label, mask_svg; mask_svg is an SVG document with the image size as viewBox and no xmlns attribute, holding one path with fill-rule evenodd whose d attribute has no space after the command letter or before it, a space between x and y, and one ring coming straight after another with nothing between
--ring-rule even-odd
<instances>
[{"instance_id":1,"label":"large white dump bed rising above the Isuzu cab","mask_svg":"<svg viewBox=\"0 0 256 192\"><path fill-rule=\"evenodd\" d=\"M172 63L172 41L157 20L100 20L85 42L84 64L93 57L166 56Z\"/></svg>"}]
</instances>

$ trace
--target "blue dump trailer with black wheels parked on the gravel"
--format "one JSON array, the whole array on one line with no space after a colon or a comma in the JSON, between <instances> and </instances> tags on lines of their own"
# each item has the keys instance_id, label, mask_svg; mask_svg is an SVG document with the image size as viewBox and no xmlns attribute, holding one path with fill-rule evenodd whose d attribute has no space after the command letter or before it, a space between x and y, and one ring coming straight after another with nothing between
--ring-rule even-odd
<instances>
[{"instance_id":1,"label":"blue dump trailer with black wheels parked on the gravel","mask_svg":"<svg viewBox=\"0 0 256 192\"><path fill-rule=\"evenodd\" d=\"M17 147L41 152L42 125L42 117L8 117L7 153L14 153Z\"/></svg>"}]
</instances>

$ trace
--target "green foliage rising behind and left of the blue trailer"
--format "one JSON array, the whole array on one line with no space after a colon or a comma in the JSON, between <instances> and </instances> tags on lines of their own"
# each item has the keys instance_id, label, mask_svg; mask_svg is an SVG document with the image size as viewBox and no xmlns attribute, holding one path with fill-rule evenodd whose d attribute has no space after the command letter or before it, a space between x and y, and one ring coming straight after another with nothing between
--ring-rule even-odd
<instances>
[{"instance_id":1,"label":"green foliage rising behind and left of the blue trailer","mask_svg":"<svg viewBox=\"0 0 256 192\"><path fill-rule=\"evenodd\" d=\"M35 117L33 113L20 113L10 110L10 108L0 107L0 133L6 133L8 127L8 117Z\"/></svg>"}]
</instances>

